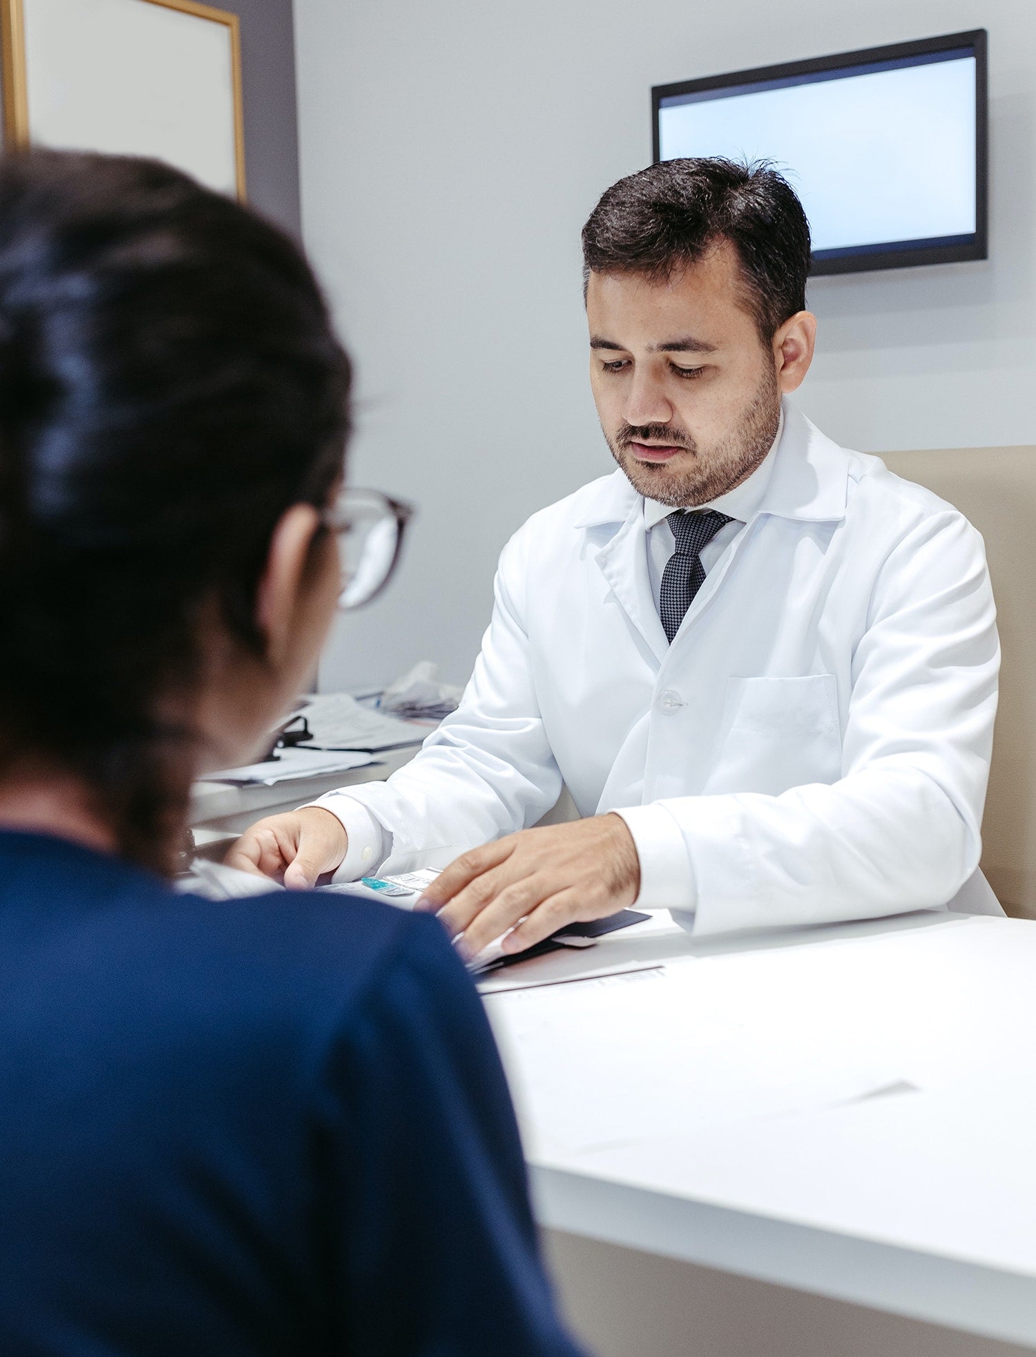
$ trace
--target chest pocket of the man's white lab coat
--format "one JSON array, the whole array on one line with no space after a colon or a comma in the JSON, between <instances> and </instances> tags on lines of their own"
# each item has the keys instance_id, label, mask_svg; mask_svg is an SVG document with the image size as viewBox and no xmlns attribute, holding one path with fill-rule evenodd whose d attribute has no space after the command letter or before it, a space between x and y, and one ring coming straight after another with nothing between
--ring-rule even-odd
<instances>
[{"instance_id":1,"label":"chest pocket of the man's white lab coat","mask_svg":"<svg viewBox=\"0 0 1036 1357\"><path fill-rule=\"evenodd\" d=\"M776 797L842 775L842 731L834 674L728 678L706 794Z\"/></svg>"}]
</instances>

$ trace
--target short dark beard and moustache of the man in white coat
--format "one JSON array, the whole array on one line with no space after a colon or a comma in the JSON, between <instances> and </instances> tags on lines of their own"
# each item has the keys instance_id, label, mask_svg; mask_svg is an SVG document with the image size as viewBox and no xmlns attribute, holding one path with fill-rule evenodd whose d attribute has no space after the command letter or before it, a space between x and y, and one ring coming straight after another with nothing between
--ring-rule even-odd
<instances>
[{"instance_id":1,"label":"short dark beard and moustache of the man in white coat","mask_svg":"<svg viewBox=\"0 0 1036 1357\"><path fill-rule=\"evenodd\" d=\"M605 432L605 441L637 494L673 509L693 509L725 495L749 479L773 446L780 419L777 375L768 364L763 380L738 427L704 455L689 433L679 432L677 436L677 430L667 425L622 425L614 440ZM679 475L674 475L667 463L652 467L637 461L629 452L629 444L637 438L658 442L664 438L686 448L694 460Z\"/></svg>"}]
</instances>

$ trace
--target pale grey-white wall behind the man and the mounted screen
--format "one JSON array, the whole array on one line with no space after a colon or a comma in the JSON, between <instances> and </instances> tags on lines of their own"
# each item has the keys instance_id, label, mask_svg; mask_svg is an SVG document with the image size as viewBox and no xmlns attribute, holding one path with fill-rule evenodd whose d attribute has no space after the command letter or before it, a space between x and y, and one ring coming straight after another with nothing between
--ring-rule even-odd
<instances>
[{"instance_id":1,"label":"pale grey-white wall behind the man and the mounted screen","mask_svg":"<svg viewBox=\"0 0 1036 1357\"><path fill-rule=\"evenodd\" d=\"M984 263L818 278L799 403L866 451L1036 442L1032 0L296 0L302 223L358 358L353 479L419 505L323 687L466 677L507 536L610 470L579 229L651 159L652 84L990 30Z\"/></svg>"}]
</instances>

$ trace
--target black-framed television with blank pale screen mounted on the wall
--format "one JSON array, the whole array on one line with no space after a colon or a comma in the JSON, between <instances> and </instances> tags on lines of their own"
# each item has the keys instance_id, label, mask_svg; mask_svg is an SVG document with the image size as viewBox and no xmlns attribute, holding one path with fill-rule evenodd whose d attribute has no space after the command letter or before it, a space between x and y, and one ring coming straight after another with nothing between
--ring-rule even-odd
<instances>
[{"instance_id":1,"label":"black-framed television with blank pale screen mounted on the wall","mask_svg":"<svg viewBox=\"0 0 1036 1357\"><path fill-rule=\"evenodd\" d=\"M770 160L812 273L987 258L986 30L651 91L655 160Z\"/></svg>"}]
</instances>

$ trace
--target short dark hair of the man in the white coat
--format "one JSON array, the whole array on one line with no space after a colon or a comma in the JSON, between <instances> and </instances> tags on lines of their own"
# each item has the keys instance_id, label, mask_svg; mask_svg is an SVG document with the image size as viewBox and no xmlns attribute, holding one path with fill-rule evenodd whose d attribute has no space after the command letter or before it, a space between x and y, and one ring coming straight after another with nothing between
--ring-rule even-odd
<instances>
[{"instance_id":1,"label":"short dark hair of the man in the white coat","mask_svg":"<svg viewBox=\"0 0 1036 1357\"><path fill-rule=\"evenodd\" d=\"M662 160L613 183L583 227L583 282L591 271L660 281L717 240L736 248L746 305L769 343L805 308L810 223L766 161Z\"/></svg>"}]
</instances>

